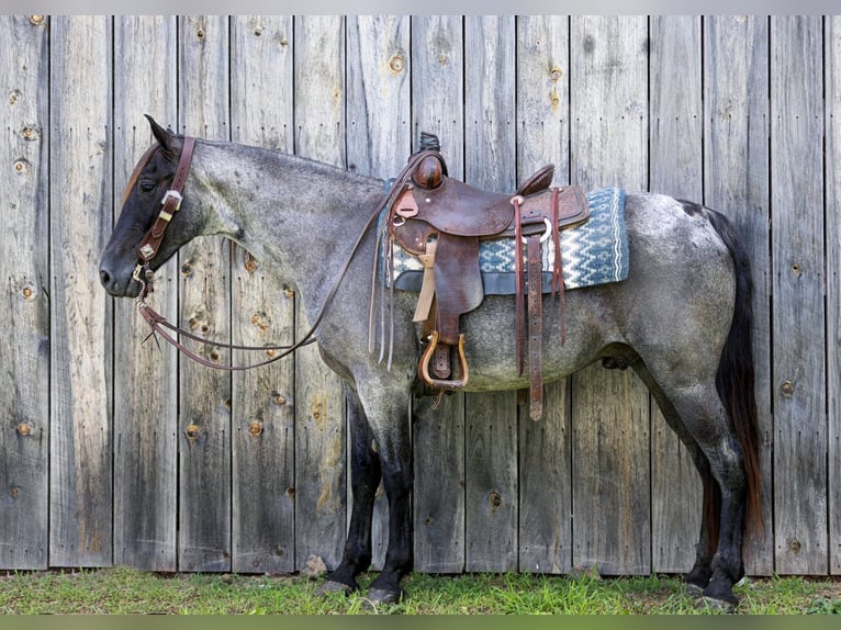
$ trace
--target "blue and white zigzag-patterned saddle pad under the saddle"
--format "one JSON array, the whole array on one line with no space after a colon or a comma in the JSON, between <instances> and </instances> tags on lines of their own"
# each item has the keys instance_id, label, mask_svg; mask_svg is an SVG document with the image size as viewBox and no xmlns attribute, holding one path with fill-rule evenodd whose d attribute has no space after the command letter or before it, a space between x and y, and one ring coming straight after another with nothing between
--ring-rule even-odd
<instances>
[{"instance_id":1,"label":"blue and white zigzag-patterned saddle pad under the saddle","mask_svg":"<svg viewBox=\"0 0 841 630\"><path fill-rule=\"evenodd\" d=\"M625 233L625 190L604 188L586 193L590 221L561 232L563 282L570 289L619 282L628 277L628 240ZM388 209L380 216L383 221ZM551 291L554 260L552 239L543 243L543 291ZM479 267L485 295L514 294L513 238L482 240ZM386 257L388 258L388 257ZM394 243L394 288L419 292L423 265L418 258ZM384 274L388 284L389 273ZM383 274L381 274L381 278Z\"/></svg>"}]
</instances>

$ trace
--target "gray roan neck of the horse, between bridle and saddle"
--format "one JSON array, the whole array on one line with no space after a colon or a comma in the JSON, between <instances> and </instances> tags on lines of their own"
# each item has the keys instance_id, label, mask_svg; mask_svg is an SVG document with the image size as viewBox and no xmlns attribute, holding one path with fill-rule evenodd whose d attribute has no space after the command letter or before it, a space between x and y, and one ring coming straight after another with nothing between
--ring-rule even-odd
<instances>
[{"instance_id":1,"label":"gray roan neck of the horse, between bridle and saddle","mask_svg":"<svg viewBox=\"0 0 841 630\"><path fill-rule=\"evenodd\" d=\"M294 282L307 308L319 303L375 210L382 181L269 149L206 147L200 202L215 211L208 232Z\"/></svg>"}]
</instances>

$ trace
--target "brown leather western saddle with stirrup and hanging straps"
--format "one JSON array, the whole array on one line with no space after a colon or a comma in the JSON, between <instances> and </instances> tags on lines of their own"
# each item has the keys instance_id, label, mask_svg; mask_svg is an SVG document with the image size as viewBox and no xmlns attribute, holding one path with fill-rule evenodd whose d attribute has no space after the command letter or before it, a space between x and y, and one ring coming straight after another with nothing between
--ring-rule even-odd
<instances>
[{"instance_id":1,"label":"brown leather western saddle with stirrup and hanging straps","mask_svg":"<svg viewBox=\"0 0 841 630\"><path fill-rule=\"evenodd\" d=\"M479 243L514 238L522 244L515 256L517 369L522 375L526 347L529 364L529 414L542 415L542 247L552 239L554 258L551 293L557 294L563 324L563 268L560 230L590 217L580 187L550 188L554 166L547 165L528 178L514 194L489 192L448 177L438 138L422 135L414 154L392 185L384 240L393 240L418 257L424 267L414 320L422 323L424 349L418 375L439 392L468 383L462 314L476 308L483 297ZM525 256L523 250L525 249ZM391 282L393 286L393 279ZM451 351L458 355L453 374Z\"/></svg>"}]
</instances>

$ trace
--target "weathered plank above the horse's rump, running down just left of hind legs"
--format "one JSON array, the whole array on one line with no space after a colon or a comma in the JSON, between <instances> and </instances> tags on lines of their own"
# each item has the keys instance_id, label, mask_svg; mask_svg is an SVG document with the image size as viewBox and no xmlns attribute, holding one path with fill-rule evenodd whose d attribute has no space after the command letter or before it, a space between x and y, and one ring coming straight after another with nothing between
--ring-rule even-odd
<instances>
[{"instance_id":1,"label":"weathered plank above the horse's rump, running down just left of hind legs","mask_svg":"<svg viewBox=\"0 0 841 630\"><path fill-rule=\"evenodd\" d=\"M703 201L700 18L651 16L651 190ZM692 569L703 488L659 409L651 417L652 570Z\"/></svg>"}]
</instances>

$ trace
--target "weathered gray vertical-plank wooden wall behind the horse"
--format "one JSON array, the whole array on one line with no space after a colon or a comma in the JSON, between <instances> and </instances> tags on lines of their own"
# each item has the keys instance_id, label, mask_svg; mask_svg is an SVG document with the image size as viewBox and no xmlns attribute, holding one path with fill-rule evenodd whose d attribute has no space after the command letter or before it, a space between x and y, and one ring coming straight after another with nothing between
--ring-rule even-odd
<instances>
[{"instance_id":1,"label":"weathered gray vertical-plank wooden wall behind the horse","mask_svg":"<svg viewBox=\"0 0 841 630\"><path fill-rule=\"evenodd\" d=\"M0 567L340 556L343 397L317 353L214 373L143 344L99 285L149 113L382 178L430 131L485 188L551 161L557 183L722 211L756 286L748 570L841 574L841 18L3 15L0 42ZM158 277L155 306L206 335L305 326L294 286L221 239ZM537 424L470 394L413 428L416 567L687 570L699 484L639 380L593 367L546 397Z\"/></svg>"}]
</instances>

